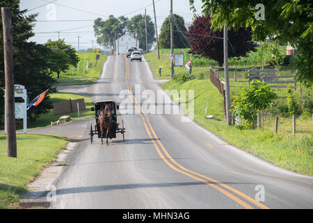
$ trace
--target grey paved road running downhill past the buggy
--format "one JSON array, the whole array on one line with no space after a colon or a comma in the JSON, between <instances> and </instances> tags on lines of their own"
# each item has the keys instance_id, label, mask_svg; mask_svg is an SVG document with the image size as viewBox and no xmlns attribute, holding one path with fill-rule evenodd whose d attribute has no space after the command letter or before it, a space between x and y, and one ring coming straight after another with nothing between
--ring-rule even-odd
<instances>
[{"instance_id":1,"label":"grey paved road running downhill past the buggy","mask_svg":"<svg viewBox=\"0 0 313 223\"><path fill-rule=\"evenodd\" d=\"M145 61L109 56L97 83L70 90L94 101L120 102L118 121L124 120L126 141L118 134L109 146L99 139L90 144L90 120L60 127L60 133L73 130L85 140L56 181L51 208L313 208L312 177L227 145L197 124L183 122L183 112L153 114L147 95L153 98L161 88ZM126 99L136 102L135 112L123 105ZM159 113L166 112L165 106L178 109L170 101L153 105Z\"/></svg>"}]
</instances>

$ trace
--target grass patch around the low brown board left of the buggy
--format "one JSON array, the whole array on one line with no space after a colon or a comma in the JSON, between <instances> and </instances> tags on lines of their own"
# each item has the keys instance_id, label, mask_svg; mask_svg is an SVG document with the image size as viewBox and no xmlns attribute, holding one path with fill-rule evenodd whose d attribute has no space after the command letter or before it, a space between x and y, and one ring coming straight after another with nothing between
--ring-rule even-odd
<instances>
[{"instance_id":1,"label":"grass patch around the low brown board left of the buggy","mask_svg":"<svg viewBox=\"0 0 313 223\"><path fill-rule=\"evenodd\" d=\"M49 100L51 101L51 103L56 103L56 102L64 102L70 99L76 100L80 98L83 98L85 100L86 110L80 111L79 116L78 116L78 112L54 115L53 109L51 109L49 113L47 114L40 114L39 118L36 119L34 123L29 123L28 128L46 127L51 124L51 121L58 121L58 118L60 118L61 116L71 116L72 119L92 118L94 113L91 111L91 107L94 106L94 103L93 103L93 100L91 100L91 98L74 94L74 93L58 92L58 93L51 94Z\"/></svg>"}]
</instances>

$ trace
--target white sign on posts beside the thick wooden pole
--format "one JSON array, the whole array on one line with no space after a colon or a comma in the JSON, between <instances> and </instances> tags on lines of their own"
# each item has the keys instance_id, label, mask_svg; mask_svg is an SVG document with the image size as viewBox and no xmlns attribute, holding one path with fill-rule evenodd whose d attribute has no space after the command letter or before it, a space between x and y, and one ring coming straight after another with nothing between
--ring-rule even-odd
<instances>
[{"instance_id":1,"label":"white sign on posts beside the thick wooden pole","mask_svg":"<svg viewBox=\"0 0 313 223\"><path fill-rule=\"evenodd\" d=\"M15 102L15 119L23 119L23 132L26 134L27 130L27 91L23 85L14 85L15 98L22 98L24 102ZM6 95L4 95L6 97ZM6 110L6 107L4 107ZM6 116L5 116L6 119ZM5 120L6 125L6 120ZM6 126L4 128L4 133L6 134Z\"/></svg>"}]
</instances>

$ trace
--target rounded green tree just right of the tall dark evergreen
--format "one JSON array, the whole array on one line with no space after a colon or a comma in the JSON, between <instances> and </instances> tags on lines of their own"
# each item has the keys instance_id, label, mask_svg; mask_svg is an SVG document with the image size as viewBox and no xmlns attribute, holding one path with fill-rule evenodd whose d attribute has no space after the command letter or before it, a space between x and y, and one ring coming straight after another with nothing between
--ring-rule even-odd
<instances>
[{"instance_id":1,"label":"rounded green tree just right of the tall dark evergreen","mask_svg":"<svg viewBox=\"0 0 313 223\"><path fill-rule=\"evenodd\" d=\"M51 50L49 56L49 68L51 72L56 72L60 78L60 72L67 70L70 65L76 67L79 62L79 57L76 50L71 45L66 45L63 40L56 40L45 44Z\"/></svg>"}]
</instances>

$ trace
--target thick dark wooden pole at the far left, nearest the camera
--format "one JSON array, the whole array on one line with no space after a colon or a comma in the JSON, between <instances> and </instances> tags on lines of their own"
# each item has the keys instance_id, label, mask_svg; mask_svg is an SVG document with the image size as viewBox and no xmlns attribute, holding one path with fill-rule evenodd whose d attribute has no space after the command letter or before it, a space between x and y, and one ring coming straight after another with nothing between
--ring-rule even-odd
<instances>
[{"instance_id":1,"label":"thick dark wooden pole at the far left, nearest the camera","mask_svg":"<svg viewBox=\"0 0 313 223\"><path fill-rule=\"evenodd\" d=\"M13 32L10 8L1 8L3 25L4 74L6 78L6 144L8 157L17 157L15 92L13 73Z\"/></svg>"}]
</instances>

